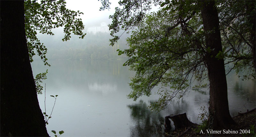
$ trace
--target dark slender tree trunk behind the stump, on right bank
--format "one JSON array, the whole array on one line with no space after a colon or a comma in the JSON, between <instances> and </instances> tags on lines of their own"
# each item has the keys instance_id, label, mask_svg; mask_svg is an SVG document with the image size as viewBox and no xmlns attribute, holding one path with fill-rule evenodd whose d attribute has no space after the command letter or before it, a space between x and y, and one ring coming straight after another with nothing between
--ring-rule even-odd
<instances>
[{"instance_id":1,"label":"dark slender tree trunk behind the stump, on right bank","mask_svg":"<svg viewBox=\"0 0 256 137\"><path fill-rule=\"evenodd\" d=\"M202 1L201 4L206 48L211 49L204 57L210 81L209 125L212 129L228 128L235 122L228 109L224 60L216 58L219 51L222 52L218 13L214 1Z\"/></svg>"}]
</instances>

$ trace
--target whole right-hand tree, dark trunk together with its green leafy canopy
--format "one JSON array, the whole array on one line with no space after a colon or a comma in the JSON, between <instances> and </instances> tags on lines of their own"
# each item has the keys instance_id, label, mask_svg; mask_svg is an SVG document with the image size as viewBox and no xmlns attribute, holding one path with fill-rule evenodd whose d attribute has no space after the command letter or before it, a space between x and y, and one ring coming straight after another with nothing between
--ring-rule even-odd
<instances>
[{"instance_id":1,"label":"whole right-hand tree, dark trunk together with its green leafy canopy","mask_svg":"<svg viewBox=\"0 0 256 137\"><path fill-rule=\"evenodd\" d=\"M153 4L161 8L148 13ZM149 96L158 86L161 97L150 107L159 111L191 87L209 86L210 119L215 119L210 125L234 123L224 62L226 73L236 69L244 72L243 79L255 79L255 1L124 0L119 5L110 16L110 45L119 39L115 33L131 31L129 49L118 50L130 57L124 65L136 71L128 97Z\"/></svg>"}]
</instances>

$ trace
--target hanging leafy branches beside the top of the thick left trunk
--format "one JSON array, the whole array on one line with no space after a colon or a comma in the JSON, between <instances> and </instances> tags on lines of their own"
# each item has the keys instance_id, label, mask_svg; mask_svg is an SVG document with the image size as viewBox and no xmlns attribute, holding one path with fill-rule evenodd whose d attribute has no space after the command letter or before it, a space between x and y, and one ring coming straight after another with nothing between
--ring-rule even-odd
<instances>
[{"instance_id":1,"label":"hanging leafy branches beside the top of the thick left trunk","mask_svg":"<svg viewBox=\"0 0 256 137\"><path fill-rule=\"evenodd\" d=\"M38 31L42 34L54 35L52 33L53 28L64 27L65 36L62 41L69 40L71 33L79 35L79 38L84 38L82 19L76 18L83 13L68 10L65 4L64 0L25 1L25 30L30 62L33 62L32 57L36 55L34 52L34 49L36 49L38 56L44 61L44 65L49 65L45 56L47 48L36 37Z\"/></svg>"}]
</instances>

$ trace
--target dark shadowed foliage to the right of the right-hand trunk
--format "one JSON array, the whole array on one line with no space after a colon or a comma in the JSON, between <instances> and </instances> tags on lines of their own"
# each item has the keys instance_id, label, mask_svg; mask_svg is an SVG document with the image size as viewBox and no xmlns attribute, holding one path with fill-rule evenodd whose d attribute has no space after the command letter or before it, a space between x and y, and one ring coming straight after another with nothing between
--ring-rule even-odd
<instances>
[{"instance_id":1,"label":"dark shadowed foliage to the right of the right-hand trunk","mask_svg":"<svg viewBox=\"0 0 256 137\"><path fill-rule=\"evenodd\" d=\"M226 1L219 5L224 51L221 57L230 65L229 72L246 70L243 80L255 79L255 1Z\"/></svg>"}]
</instances>

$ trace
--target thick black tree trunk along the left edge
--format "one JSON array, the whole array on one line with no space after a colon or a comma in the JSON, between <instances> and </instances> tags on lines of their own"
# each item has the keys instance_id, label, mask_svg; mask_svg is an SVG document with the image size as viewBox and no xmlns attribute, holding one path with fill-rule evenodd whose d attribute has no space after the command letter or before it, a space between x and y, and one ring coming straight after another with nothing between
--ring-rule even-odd
<instances>
[{"instance_id":1,"label":"thick black tree trunk along the left edge","mask_svg":"<svg viewBox=\"0 0 256 137\"><path fill-rule=\"evenodd\" d=\"M49 136L25 36L24 1L0 1L1 136Z\"/></svg>"}]
</instances>

